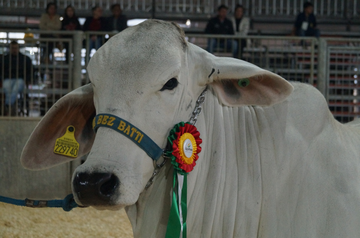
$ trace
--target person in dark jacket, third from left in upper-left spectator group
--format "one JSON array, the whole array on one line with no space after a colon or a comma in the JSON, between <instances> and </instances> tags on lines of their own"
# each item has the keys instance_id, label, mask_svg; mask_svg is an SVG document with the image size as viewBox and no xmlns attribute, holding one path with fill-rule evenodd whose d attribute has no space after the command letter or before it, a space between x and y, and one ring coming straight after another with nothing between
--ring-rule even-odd
<instances>
[{"instance_id":1,"label":"person in dark jacket, third from left in upper-left spectator group","mask_svg":"<svg viewBox=\"0 0 360 238\"><path fill-rule=\"evenodd\" d=\"M88 17L84 23L84 31L106 31L106 21L102 17L102 9L99 6L94 6L92 9L92 17ZM101 47L101 35L90 35L90 49L98 49Z\"/></svg>"}]
</instances>

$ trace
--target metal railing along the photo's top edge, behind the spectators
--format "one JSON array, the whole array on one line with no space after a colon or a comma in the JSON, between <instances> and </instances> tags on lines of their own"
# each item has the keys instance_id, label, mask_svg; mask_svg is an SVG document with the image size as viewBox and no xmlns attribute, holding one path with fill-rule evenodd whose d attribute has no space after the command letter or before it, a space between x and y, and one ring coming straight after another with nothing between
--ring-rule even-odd
<instances>
[{"instance_id":1,"label":"metal railing along the photo's top edge, behind the spectators","mask_svg":"<svg viewBox=\"0 0 360 238\"><path fill-rule=\"evenodd\" d=\"M90 10L95 4L109 9L119 3L125 12L156 12L214 14L220 4L233 12L236 4L243 4L249 16L295 16L303 10L305 0L57 0L59 8L73 5L77 10ZM50 0L0 0L0 7L45 9ZM313 0L317 16L354 18L360 15L359 0Z\"/></svg>"}]
</instances>

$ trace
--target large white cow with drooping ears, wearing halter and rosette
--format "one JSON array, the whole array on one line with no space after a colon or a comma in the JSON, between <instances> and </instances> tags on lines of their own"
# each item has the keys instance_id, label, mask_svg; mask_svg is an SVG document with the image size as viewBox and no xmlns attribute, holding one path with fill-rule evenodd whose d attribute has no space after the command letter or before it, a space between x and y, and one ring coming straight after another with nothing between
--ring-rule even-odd
<instances>
[{"instance_id":1,"label":"large white cow with drooping ears, wearing halter and rosette","mask_svg":"<svg viewBox=\"0 0 360 238\"><path fill-rule=\"evenodd\" d=\"M196 124L202 152L188 174L187 237L360 237L360 123L334 120L314 87L215 57L157 20L113 36L88 72L91 84L49 110L21 157L31 170L70 161L53 149L73 125L79 156L90 151L73 176L78 204L125 207L135 238L164 238L172 165L146 190L153 160L112 129L95 136L91 121L95 111L119 116L165 148L207 87ZM242 78L250 84L239 87Z\"/></svg>"}]
</instances>

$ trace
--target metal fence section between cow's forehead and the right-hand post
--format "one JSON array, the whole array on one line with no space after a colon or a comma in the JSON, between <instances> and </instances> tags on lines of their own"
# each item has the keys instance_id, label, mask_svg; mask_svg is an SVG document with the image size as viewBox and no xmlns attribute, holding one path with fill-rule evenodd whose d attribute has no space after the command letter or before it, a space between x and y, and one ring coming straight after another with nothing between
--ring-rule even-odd
<instances>
[{"instance_id":1,"label":"metal fence section between cow's forehead and the right-hand post","mask_svg":"<svg viewBox=\"0 0 360 238\"><path fill-rule=\"evenodd\" d=\"M217 56L234 57L291 81L316 86L314 37L187 34L189 42Z\"/></svg>"}]
</instances>

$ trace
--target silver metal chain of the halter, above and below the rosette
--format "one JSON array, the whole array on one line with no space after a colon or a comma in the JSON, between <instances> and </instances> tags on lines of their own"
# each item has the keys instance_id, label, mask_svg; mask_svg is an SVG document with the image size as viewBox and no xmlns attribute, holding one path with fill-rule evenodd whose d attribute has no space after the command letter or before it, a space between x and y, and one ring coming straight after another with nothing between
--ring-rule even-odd
<instances>
[{"instance_id":1,"label":"silver metal chain of the halter, above and below the rosette","mask_svg":"<svg viewBox=\"0 0 360 238\"><path fill-rule=\"evenodd\" d=\"M200 94L199 98L196 101L195 108L191 113L190 124L193 126L195 126L195 124L197 122L197 116L200 115L200 113L201 113L201 105L205 101L205 93L206 93L206 89ZM151 186L151 184L154 182L154 177L160 172L160 169L165 165L166 161L168 160L169 157L167 157L165 155L165 152L166 152L166 150L164 150L164 152L162 154L162 157L164 158L163 163L158 165L158 164L156 164L156 161L154 160L154 171L152 172L152 176L145 186L146 189Z\"/></svg>"}]
</instances>

